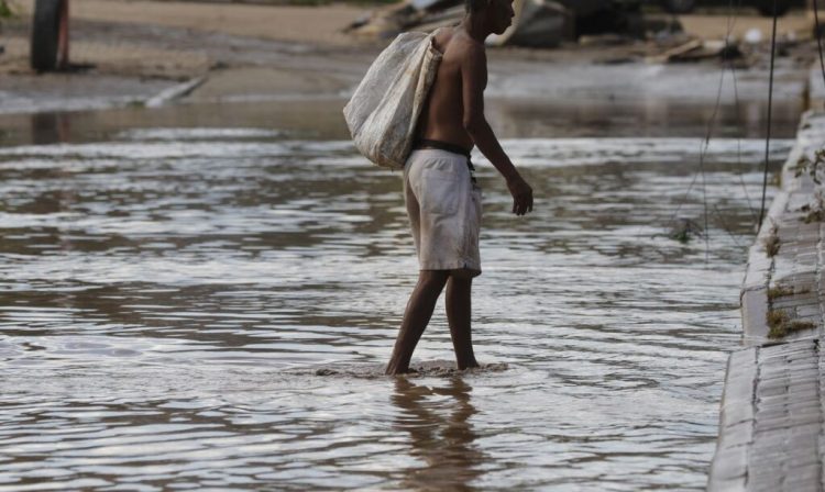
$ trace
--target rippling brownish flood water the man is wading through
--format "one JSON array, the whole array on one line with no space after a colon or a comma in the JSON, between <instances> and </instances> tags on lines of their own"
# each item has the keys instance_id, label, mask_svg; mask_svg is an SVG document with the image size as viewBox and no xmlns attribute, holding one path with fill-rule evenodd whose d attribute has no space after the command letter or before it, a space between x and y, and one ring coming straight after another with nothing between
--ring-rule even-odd
<instances>
[{"instance_id":1,"label":"rippling brownish flood water the man is wading through","mask_svg":"<svg viewBox=\"0 0 825 492\"><path fill-rule=\"evenodd\" d=\"M416 280L400 178L348 141L8 141L0 491L704 490L765 143L714 139L700 175L702 121L508 138L526 217L479 157L495 366L406 378L381 376ZM669 238L703 202L706 241ZM414 366L451 360L440 302Z\"/></svg>"}]
</instances>

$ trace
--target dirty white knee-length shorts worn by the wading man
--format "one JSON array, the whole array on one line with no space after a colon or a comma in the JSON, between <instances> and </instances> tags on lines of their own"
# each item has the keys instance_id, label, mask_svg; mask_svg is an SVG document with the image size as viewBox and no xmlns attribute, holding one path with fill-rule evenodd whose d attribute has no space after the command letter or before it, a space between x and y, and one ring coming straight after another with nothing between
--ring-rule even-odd
<instances>
[{"instance_id":1,"label":"dirty white knee-length shorts worn by the wading man","mask_svg":"<svg viewBox=\"0 0 825 492\"><path fill-rule=\"evenodd\" d=\"M421 270L481 275L481 199L465 156L413 150L404 166L404 201Z\"/></svg>"}]
</instances>

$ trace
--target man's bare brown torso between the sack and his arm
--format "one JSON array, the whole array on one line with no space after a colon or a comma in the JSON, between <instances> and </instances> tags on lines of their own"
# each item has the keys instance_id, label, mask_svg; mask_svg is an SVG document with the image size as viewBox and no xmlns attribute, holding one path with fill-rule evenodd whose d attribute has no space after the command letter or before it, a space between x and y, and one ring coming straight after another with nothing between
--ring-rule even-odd
<instances>
[{"instance_id":1,"label":"man's bare brown torso between the sack and his arm","mask_svg":"<svg viewBox=\"0 0 825 492\"><path fill-rule=\"evenodd\" d=\"M473 148L473 138L464 128L461 67L468 51L479 49L479 43L460 29L448 27L436 35L433 45L443 57L427 104L421 111L418 136L448 142L470 150ZM483 85L486 85L486 80Z\"/></svg>"}]
</instances>

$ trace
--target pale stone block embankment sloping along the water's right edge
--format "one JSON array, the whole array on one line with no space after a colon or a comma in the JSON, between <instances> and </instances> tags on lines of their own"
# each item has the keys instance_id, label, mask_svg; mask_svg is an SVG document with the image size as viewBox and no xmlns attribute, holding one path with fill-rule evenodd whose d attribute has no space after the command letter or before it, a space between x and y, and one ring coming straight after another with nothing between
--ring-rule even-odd
<instances>
[{"instance_id":1,"label":"pale stone block embankment sloping along the water's right edge","mask_svg":"<svg viewBox=\"0 0 825 492\"><path fill-rule=\"evenodd\" d=\"M805 113L749 251L708 491L825 490L824 147L825 114Z\"/></svg>"}]
</instances>

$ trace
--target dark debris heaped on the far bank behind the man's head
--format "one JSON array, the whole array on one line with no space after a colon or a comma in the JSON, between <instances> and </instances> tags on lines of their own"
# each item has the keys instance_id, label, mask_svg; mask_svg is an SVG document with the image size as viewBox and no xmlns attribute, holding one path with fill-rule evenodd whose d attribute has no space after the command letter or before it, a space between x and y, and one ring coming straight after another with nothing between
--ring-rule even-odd
<instances>
[{"instance_id":1,"label":"dark debris heaped on the far bank behind the man's head","mask_svg":"<svg viewBox=\"0 0 825 492\"><path fill-rule=\"evenodd\" d=\"M569 45L606 47L598 63L673 64L702 60L754 65L767 43L758 29L740 40L700 40L683 32L671 15L644 15L641 0L515 0L513 25L491 35L494 46L554 48ZM371 12L344 31L367 40L391 40L409 30L432 31L454 25L464 16L463 0L404 0ZM798 43L793 36L778 42L778 54ZM622 46L627 46L622 48ZM624 49L624 51L623 51Z\"/></svg>"}]
</instances>

